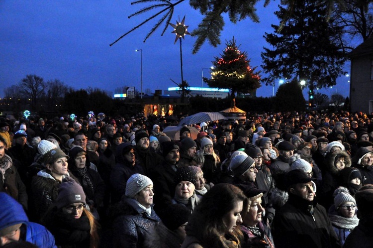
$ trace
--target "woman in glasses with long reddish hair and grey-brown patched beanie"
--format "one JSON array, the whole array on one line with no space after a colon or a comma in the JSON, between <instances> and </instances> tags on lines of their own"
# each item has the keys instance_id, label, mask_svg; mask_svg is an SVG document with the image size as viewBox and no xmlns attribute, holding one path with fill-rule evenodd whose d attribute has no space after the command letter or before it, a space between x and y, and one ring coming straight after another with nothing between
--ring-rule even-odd
<instances>
[{"instance_id":1,"label":"woman in glasses with long reddish hair and grey-brown patched beanie","mask_svg":"<svg viewBox=\"0 0 373 248\"><path fill-rule=\"evenodd\" d=\"M53 234L59 248L98 248L98 224L86 209L82 186L71 177L62 180L57 200L42 223Z\"/></svg>"}]
</instances>

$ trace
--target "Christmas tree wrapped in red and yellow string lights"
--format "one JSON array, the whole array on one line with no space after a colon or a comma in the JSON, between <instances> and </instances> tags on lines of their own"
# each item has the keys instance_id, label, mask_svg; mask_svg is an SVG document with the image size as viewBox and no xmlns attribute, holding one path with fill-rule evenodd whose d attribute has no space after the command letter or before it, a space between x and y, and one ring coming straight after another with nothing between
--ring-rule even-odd
<instances>
[{"instance_id":1,"label":"Christmas tree wrapped in red and yellow string lights","mask_svg":"<svg viewBox=\"0 0 373 248\"><path fill-rule=\"evenodd\" d=\"M226 43L221 57L215 57L212 61L211 79L203 78L208 86L219 89L230 89L232 99L235 93L250 93L258 89L260 85L259 72L250 67L250 59L246 52L241 52L233 39Z\"/></svg>"}]
</instances>

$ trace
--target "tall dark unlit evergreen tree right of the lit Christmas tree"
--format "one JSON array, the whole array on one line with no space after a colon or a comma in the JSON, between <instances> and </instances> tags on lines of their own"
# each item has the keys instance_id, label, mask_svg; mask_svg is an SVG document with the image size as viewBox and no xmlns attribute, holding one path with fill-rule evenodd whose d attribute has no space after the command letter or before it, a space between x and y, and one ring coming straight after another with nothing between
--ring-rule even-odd
<instances>
[{"instance_id":1,"label":"tall dark unlit evergreen tree right of the lit Christmas tree","mask_svg":"<svg viewBox=\"0 0 373 248\"><path fill-rule=\"evenodd\" d=\"M279 6L275 14L282 20L287 10ZM346 57L338 46L337 37L342 29L327 21L326 4L314 0L296 1L292 15L274 33L265 33L266 41L273 47L262 52L263 69L269 73L263 80L273 85L279 78L304 80L311 91L330 87L344 73Z\"/></svg>"}]
</instances>

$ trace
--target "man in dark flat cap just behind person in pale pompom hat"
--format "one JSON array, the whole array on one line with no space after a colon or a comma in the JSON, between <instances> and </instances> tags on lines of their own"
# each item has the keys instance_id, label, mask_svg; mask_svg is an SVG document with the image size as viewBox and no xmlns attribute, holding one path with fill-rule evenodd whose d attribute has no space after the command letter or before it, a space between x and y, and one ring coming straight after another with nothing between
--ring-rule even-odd
<instances>
[{"instance_id":1,"label":"man in dark flat cap just behind person in pale pompom hat","mask_svg":"<svg viewBox=\"0 0 373 248\"><path fill-rule=\"evenodd\" d=\"M290 170L289 158L294 154L295 146L288 141L279 141L277 144L279 157L271 164L272 176L276 179Z\"/></svg>"}]
</instances>

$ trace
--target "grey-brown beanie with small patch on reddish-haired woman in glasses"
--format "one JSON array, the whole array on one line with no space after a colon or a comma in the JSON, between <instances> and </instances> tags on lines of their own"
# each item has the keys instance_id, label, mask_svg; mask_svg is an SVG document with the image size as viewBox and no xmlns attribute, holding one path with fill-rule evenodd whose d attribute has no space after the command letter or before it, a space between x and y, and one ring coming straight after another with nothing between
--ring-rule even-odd
<instances>
[{"instance_id":1,"label":"grey-brown beanie with small patch on reddish-haired woman in glasses","mask_svg":"<svg viewBox=\"0 0 373 248\"><path fill-rule=\"evenodd\" d=\"M65 177L62 179L58 190L58 196L56 199L57 208L65 207L72 203L84 203L86 204L86 194L83 191L81 185L79 185L72 177Z\"/></svg>"}]
</instances>

